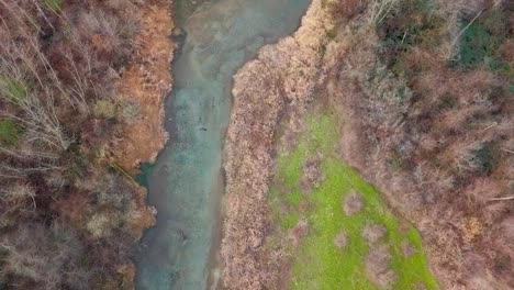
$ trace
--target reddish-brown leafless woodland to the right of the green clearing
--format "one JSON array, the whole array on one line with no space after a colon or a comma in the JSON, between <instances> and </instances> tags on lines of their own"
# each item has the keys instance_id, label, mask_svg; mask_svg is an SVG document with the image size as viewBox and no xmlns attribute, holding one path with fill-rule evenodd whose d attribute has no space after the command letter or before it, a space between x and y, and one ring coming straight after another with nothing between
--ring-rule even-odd
<instances>
[{"instance_id":1,"label":"reddish-brown leafless woodland to the right of the green clearing","mask_svg":"<svg viewBox=\"0 0 514 290\"><path fill-rule=\"evenodd\" d=\"M514 3L368 9L373 30L334 34L342 156L416 224L443 288L512 289Z\"/></svg>"}]
</instances>

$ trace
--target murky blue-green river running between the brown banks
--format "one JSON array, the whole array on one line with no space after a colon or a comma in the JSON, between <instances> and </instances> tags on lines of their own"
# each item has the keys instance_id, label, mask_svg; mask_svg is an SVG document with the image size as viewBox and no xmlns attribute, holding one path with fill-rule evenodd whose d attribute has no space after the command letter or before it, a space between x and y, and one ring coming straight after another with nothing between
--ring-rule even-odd
<instances>
[{"instance_id":1,"label":"murky blue-green river running between the brown banks","mask_svg":"<svg viewBox=\"0 0 514 290\"><path fill-rule=\"evenodd\" d=\"M137 257L141 290L206 289L223 192L221 154L235 70L266 43L291 34L310 0L205 2L183 25L168 98L170 142L148 176L157 225Z\"/></svg>"}]
</instances>

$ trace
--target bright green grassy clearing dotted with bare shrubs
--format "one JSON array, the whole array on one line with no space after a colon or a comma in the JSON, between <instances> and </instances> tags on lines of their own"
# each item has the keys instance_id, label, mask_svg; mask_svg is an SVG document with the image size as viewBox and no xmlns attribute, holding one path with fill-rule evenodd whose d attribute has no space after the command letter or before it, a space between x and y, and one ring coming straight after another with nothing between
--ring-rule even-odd
<instances>
[{"instance_id":1,"label":"bright green grassy clearing dotted with bare shrubs","mask_svg":"<svg viewBox=\"0 0 514 290\"><path fill-rule=\"evenodd\" d=\"M398 275L392 289L437 289L426 268L422 244L415 228L399 221L381 200L377 190L340 161L334 154L338 138L335 118L311 115L300 144L278 157L277 181L270 192L270 204L282 233L288 233L301 219L309 222L309 234L291 248L293 270L291 289L380 289L366 274L365 258L370 247L362 237L362 228L370 223L381 224L388 233L378 245L386 245L391 254L390 268ZM324 180L310 193L298 188L303 163L321 156ZM357 191L364 201L360 212L346 216L343 200ZM301 204L309 203L308 210ZM345 232L347 246L334 244L337 234ZM402 245L411 244L412 255L405 257Z\"/></svg>"}]
</instances>

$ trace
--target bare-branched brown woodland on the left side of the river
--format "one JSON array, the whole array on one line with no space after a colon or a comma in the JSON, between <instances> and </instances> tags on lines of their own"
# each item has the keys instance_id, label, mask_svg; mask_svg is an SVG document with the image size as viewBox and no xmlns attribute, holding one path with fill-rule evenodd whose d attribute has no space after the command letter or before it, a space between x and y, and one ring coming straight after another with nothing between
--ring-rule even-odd
<instances>
[{"instance_id":1,"label":"bare-branched brown woodland on the left side of the river","mask_svg":"<svg viewBox=\"0 0 514 290\"><path fill-rule=\"evenodd\" d=\"M152 223L111 158L143 1L0 1L0 289L130 289Z\"/></svg>"}]
</instances>

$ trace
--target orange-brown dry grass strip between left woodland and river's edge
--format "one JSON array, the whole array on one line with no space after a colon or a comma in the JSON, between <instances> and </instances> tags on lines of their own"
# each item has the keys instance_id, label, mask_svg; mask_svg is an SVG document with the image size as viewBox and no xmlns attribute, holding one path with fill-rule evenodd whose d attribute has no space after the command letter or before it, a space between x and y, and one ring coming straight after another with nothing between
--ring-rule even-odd
<instances>
[{"instance_id":1,"label":"orange-brown dry grass strip between left woodland and river's edge","mask_svg":"<svg viewBox=\"0 0 514 290\"><path fill-rule=\"evenodd\" d=\"M165 2L148 4L141 12L141 34L135 40L138 47L136 57L119 81L121 97L137 102L142 115L125 125L120 142L112 147L116 160L124 168L154 161L167 140L163 100L171 88L169 65L174 44L168 38L174 29L169 21L171 12Z\"/></svg>"}]
</instances>

